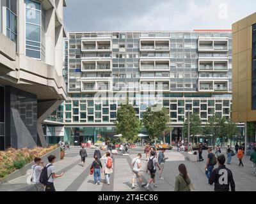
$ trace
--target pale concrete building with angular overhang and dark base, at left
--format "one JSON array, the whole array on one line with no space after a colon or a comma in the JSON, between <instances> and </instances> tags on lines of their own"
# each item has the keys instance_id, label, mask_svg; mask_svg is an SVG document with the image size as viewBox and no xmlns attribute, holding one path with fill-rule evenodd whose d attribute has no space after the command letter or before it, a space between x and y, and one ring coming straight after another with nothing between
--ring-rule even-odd
<instances>
[{"instance_id":1,"label":"pale concrete building with angular overhang and dark base, at left","mask_svg":"<svg viewBox=\"0 0 256 204\"><path fill-rule=\"evenodd\" d=\"M0 0L0 150L46 145L42 123L66 98L65 0Z\"/></svg>"}]
</instances>

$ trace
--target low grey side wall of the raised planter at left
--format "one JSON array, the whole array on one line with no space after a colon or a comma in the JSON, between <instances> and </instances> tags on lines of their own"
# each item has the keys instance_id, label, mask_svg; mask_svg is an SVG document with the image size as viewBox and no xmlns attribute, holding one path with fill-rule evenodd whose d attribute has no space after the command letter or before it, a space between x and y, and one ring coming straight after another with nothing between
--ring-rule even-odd
<instances>
[{"instance_id":1,"label":"low grey side wall of the raised planter at left","mask_svg":"<svg viewBox=\"0 0 256 204\"><path fill-rule=\"evenodd\" d=\"M60 161L60 147L52 150L51 152L48 152L47 154L41 157L41 159L44 161L44 164L49 163L47 157L51 154L56 156L56 162ZM17 179L19 177L26 175L27 171L31 168L33 164L34 164L34 161L32 161L29 164L26 164L26 166L20 168L19 170L13 171L13 173L10 173L7 177L0 178L0 184L3 184L5 182L8 182L9 180Z\"/></svg>"}]
</instances>

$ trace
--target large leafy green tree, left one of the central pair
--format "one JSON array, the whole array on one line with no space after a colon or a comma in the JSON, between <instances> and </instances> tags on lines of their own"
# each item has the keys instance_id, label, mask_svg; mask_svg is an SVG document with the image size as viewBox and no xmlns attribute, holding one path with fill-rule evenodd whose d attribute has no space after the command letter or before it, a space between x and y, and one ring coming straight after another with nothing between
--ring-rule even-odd
<instances>
[{"instance_id":1,"label":"large leafy green tree, left one of the central pair","mask_svg":"<svg viewBox=\"0 0 256 204\"><path fill-rule=\"evenodd\" d=\"M116 114L116 133L122 134L121 140L133 142L141 129L141 121L136 117L132 105L122 104Z\"/></svg>"}]
</instances>

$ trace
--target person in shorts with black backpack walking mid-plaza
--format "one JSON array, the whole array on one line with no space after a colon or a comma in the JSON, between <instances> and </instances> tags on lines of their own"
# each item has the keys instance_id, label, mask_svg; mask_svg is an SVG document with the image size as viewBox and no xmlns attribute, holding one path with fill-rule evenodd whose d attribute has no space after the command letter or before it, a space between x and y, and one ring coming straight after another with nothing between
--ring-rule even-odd
<instances>
[{"instance_id":1,"label":"person in shorts with black backpack walking mid-plaza","mask_svg":"<svg viewBox=\"0 0 256 204\"><path fill-rule=\"evenodd\" d=\"M148 166L147 166L147 172L149 171L150 173L150 179L148 179L147 184L143 185L145 188L149 191L149 185L153 182L154 187L157 187L156 184L156 167L158 167L159 171L161 170L157 158L156 158L156 152L151 151L150 152L150 157L148 159Z\"/></svg>"}]
</instances>

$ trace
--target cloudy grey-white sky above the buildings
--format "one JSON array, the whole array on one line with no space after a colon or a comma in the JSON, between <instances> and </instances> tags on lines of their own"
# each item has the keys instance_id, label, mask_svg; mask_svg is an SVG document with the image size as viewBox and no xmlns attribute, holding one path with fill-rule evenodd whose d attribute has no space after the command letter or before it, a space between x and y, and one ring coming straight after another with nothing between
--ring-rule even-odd
<instances>
[{"instance_id":1,"label":"cloudy grey-white sky above the buildings","mask_svg":"<svg viewBox=\"0 0 256 204\"><path fill-rule=\"evenodd\" d=\"M231 29L255 0L66 0L67 31Z\"/></svg>"}]
</instances>

